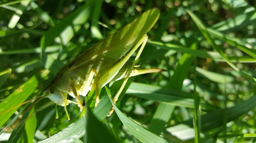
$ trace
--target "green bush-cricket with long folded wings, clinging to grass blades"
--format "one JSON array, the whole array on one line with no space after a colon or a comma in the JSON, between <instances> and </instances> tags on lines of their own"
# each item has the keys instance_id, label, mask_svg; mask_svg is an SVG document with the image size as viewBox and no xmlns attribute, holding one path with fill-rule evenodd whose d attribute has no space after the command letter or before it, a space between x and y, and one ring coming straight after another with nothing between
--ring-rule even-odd
<instances>
[{"instance_id":1,"label":"green bush-cricket with long folded wings, clinging to grass blades","mask_svg":"<svg viewBox=\"0 0 256 143\"><path fill-rule=\"evenodd\" d=\"M148 10L124 28L83 52L58 72L44 90L45 96L58 105L67 106L67 94L70 94L76 98L82 109L79 95L85 96L88 91L97 91L109 82L121 78L159 72L159 69L141 72L142 69L133 68L136 59L134 63L127 62L140 45L142 47L146 44L146 33L155 25L158 17L157 9ZM99 96L96 103L98 102Z\"/></svg>"}]
</instances>

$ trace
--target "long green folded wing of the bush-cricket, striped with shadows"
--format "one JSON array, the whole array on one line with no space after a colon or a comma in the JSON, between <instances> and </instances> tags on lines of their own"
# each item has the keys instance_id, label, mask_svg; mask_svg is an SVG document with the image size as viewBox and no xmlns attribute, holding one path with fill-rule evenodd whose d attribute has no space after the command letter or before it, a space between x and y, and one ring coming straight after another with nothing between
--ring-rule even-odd
<instances>
[{"instance_id":1,"label":"long green folded wing of the bush-cricket, striped with shadows","mask_svg":"<svg viewBox=\"0 0 256 143\"><path fill-rule=\"evenodd\" d=\"M101 71L117 62L157 22L159 11L150 9L124 28L99 41L69 64L70 77L88 76L91 69Z\"/></svg>"}]
</instances>

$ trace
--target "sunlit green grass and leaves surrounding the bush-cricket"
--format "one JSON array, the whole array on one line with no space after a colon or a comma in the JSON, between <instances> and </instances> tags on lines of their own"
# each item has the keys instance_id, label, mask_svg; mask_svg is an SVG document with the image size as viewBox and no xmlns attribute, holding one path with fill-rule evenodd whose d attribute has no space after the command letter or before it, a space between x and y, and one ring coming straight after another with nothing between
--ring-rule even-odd
<instances>
[{"instance_id":1,"label":"sunlit green grass and leaves surrounding the bush-cricket","mask_svg":"<svg viewBox=\"0 0 256 143\"><path fill-rule=\"evenodd\" d=\"M117 104L121 112L110 117L101 114L103 103L94 109L92 98L82 118L75 104L67 106L70 121L61 106L55 119L49 99L22 105L0 118L0 142L139 143L152 134L159 142L256 142L255 6L254 0L2 0L0 116L41 95L63 65L154 7L161 15L139 65L165 71L131 78ZM111 83L111 92L120 83ZM109 101L106 93L102 101Z\"/></svg>"}]
</instances>

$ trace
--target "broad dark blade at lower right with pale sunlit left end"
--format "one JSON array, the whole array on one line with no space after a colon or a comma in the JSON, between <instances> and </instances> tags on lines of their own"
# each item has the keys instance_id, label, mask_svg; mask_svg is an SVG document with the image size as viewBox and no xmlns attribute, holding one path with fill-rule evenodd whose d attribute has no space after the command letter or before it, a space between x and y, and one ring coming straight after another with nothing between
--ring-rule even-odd
<instances>
[{"instance_id":1,"label":"broad dark blade at lower right with pale sunlit left end","mask_svg":"<svg viewBox=\"0 0 256 143\"><path fill-rule=\"evenodd\" d=\"M222 126L223 114L226 113L227 123L234 121L238 117L246 114L248 111L255 108L256 96L252 96L248 100L238 103L231 108L216 110L201 116L201 131L207 132L214 128ZM193 132L193 120L184 121L182 124L178 124L173 127L168 127L166 130L173 136L182 139L192 139L194 137Z\"/></svg>"}]
</instances>

